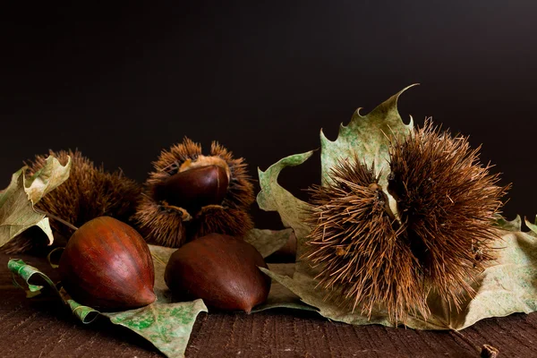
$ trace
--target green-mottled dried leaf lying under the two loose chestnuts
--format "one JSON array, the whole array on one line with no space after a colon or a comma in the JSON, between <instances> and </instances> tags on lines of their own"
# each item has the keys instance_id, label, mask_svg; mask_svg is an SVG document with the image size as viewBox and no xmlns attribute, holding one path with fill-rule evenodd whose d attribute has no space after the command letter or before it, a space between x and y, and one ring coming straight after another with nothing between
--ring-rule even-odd
<instances>
[{"instance_id":1,"label":"green-mottled dried leaf lying under the two loose chestnuts","mask_svg":"<svg viewBox=\"0 0 537 358\"><path fill-rule=\"evenodd\" d=\"M175 251L174 249L168 250ZM164 256L168 251L159 250L158 247L153 246L151 252L155 257L155 255ZM160 269L160 266L161 262L156 263L156 269L157 267ZM164 266L166 267L166 264ZM141 337L148 339L160 352L170 358L184 356L196 317L200 311L207 311L207 307L201 300L170 303L166 301L166 295L161 294L157 303L149 304L149 306L137 310L99 312L72 300L63 287L58 291L47 275L40 272L38 268L26 265L22 260L9 260L7 267L13 272L13 276L23 278L30 290L34 292L44 288L53 290L81 322L90 323L99 315L106 316L112 323L130 328ZM163 282L164 275L157 275L156 294L158 294L159 289L163 289Z\"/></svg>"}]
</instances>

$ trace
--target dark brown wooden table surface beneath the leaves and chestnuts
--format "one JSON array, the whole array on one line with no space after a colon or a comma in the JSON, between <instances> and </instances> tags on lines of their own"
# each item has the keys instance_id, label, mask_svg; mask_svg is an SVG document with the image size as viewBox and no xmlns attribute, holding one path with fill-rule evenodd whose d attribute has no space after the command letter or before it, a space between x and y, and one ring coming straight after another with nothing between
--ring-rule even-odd
<instances>
[{"instance_id":1,"label":"dark brown wooden table surface beneath the leaves and chestnuts","mask_svg":"<svg viewBox=\"0 0 537 358\"><path fill-rule=\"evenodd\" d=\"M15 256L13 255L13 258ZM16 255L57 274L43 258ZM52 298L26 299L0 254L0 357L158 357L143 338L106 319L74 320ZM537 313L482 320L460 333L354 327L314 312L200 313L187 357L478 357L484 344L499 357L537 357Z\"/></svg>"}]
</instances>

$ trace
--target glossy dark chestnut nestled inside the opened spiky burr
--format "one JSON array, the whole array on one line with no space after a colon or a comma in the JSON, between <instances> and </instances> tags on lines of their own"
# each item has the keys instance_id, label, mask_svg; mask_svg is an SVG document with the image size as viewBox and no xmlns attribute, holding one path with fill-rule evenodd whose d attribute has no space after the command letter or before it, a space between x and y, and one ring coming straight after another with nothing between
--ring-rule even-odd
<instances>
[{"instance_id":1,"label":"glossy dark chestnut nestled inside the opened spiky burr","mask_svg":"<svg viewBox=\"0 0 537 358\"><path fill-rule=\"evenodd\" d=\"M189 168L171 175L155 187L155 199L195 214L204 206L221 204L226 197L229 178L222 166Z\"/></svg>"}]
</instances>

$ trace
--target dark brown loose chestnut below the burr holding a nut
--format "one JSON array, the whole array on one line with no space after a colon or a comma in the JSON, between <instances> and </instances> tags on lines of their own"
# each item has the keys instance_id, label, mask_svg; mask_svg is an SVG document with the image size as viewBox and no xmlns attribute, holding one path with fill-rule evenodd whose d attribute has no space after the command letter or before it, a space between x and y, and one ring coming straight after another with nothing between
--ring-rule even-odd
<instances>
[{"instance_id":1,"label":"dark brown loose chestnut below the burr holding a nut","mask_svg":"<svg viewBox=\"0 0 537 358\"><path fill-rule=\"evenodd\" d=\"M175 251L165 281L175 296L201 298L209 307L246 311L267 300L270 278L260 252L250 243L224 234L208 234Z\"/></svg>"}]
</instances>

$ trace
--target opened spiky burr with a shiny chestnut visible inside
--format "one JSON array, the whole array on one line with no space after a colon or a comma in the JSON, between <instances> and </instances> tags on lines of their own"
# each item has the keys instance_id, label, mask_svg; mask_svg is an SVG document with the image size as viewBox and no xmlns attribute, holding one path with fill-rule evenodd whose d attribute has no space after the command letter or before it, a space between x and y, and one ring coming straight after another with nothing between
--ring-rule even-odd
<instances>
[{"instance_id":1,"label":"opened spiky burr with a shiny chestnut visible inside","mask_svg":"<svg viewBox=\"0 0 537 358\"><path fill-rule=\"evenodd\" d=\"M135 219L149 242L180 247L210 233L243 236L253 227L253 185L243 158L212 143L210 155L184 138L153 163Z\"/></svg>"}]
</instances>

